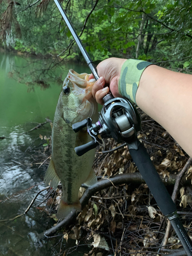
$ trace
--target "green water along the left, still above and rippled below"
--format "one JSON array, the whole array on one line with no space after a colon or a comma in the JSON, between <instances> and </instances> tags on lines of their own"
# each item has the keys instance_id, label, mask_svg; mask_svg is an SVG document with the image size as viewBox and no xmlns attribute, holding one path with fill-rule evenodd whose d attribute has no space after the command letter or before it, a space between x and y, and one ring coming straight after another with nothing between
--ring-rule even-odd
<instances>
[{"instance_id":1,"label":"green water along the left, still above and rippled below","mask_svg":"<svg viewBox=\"0 0 192 256\"><path fill-rule=\"evenodd\" d=\"M26 60L20 56L0 52L0 256L59 255L61 244L57 244L58 240L38 238L39 233L55 223L37 208L46 191L38 196L27 215L2 222L22 214L37 192L45 188L42 181L47 167L38 168L39 164L33 161L35 153L28 148L34 141L37 145L40 143L39 133L50 136L50 124L26 132L45 122L45 118L53 120L61 89L61 84L52 83L46 90L34 87L34 91L29 92L26 84L8 75L15 67L25 64ZM89 72L87 66L68 64L63 67L63 79L69 68L78 73ZM70 255L83 253L74 251Z\"/></svg>"}]
</instances>

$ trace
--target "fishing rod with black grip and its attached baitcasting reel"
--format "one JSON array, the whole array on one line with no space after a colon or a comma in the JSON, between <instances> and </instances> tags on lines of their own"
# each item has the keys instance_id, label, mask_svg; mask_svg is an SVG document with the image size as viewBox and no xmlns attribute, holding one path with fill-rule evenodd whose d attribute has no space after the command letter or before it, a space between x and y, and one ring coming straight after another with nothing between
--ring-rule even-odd
<instances>
[{"instance_id":1,"label":"fishing rod with black grip and its attached baitcasting reel","mask_svg":"<svg viewBox=\"0 0 192 256\"><path fill-rule=\"evenodd\" d=\"M94 67L86 49L84 49L69 18L59 1L54 0L54 2L65 20L90 70L92 71L93 76L98 80L99 76L97 70ZM104 105L96 123L92 123L92 119L87 118L81 122L73 124L72 128L74 132L78 132L84 127L87 127L88 133L92 137L92 141L75 148L76 154L78 156L82 156L97 145L101 144L102 141L99 139L98 135L100 135L101 138L113 138L117 142L126 142L133 161L138 167L138 170L145 180L148 188L151 190L151 193L163 215L165 215L172 224L187 255L192 256L192 242L179 219L176 205L157 173L150 156L146 152L146 148L137 138L137 133L141 130L141 122L137 110L129 100L114 98L112 94L104 96L103 101Z\"/></svg>"}]
</instances>

